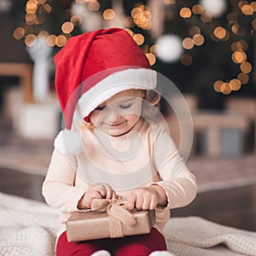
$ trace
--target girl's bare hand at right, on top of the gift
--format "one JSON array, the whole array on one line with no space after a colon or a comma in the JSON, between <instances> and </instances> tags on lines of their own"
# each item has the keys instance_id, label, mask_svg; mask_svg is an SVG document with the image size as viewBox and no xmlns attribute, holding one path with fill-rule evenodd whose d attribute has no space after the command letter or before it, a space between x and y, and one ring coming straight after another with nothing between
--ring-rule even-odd
<instances>
[{"instance_id":1,"label":"girl's bare hand at right, on top of the gift","mask_svg":"<svg viewBox=\"0 0 256 256\"><path fill-rule=\"evenodd\" d=\"M132 189L127 198L127 209L129 211L154 210L157 206L166 207L166 192L159 185L152 185L148 188Z\"/></svg>"}]
</instances>

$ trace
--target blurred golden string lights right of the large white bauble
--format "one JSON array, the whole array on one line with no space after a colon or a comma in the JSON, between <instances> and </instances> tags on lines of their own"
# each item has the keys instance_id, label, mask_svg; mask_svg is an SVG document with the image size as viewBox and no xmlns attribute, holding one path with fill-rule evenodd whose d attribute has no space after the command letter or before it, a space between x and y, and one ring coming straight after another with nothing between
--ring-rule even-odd
<instances>
[{"instance_id":1,"label":"blurred golden string lights right of the large white bauble","mask_svg":"<svg viewBox=\"0 0 256 256\"><path fill-rule=\"evenodd\" d=\"M213 10L213 5L217 2L220 5L223 5L223 9ZM218 21L218 17L223 14L226 3L223 0L215 1L202 0L200 3L196 3L192 8L191 12L188 7L182 7L180 9L179 15L184 20L189 20L193 24L193 21L196 26L191 26L189 28L189 37L183 38L183 48L187 50L188 53L182 56L181 62L184 66L189 66L192 64L192 60L184 61L188 57L184 56L189 55L189 50L195 48L195 46L202 46L205 43L205 36L201 32L200 27L198 26L198 20L201 20L202 27L208 25L211 31L211 39L214 42L225 41L230 44L230 49L232 54L230 55L230 60L239 65L240 72L235 75L235 77L230 78L227 81L217 79L213 84L213 89L216 92L222 93L224 95L229 95L232 91L237 91L241 89L241 86L249 82L249 73L253 70L253 65L248 61L247 49L248 44L246 40L241 38L246 38L245 34L247 28L244 27L242 19L251 19L249 22L251 25L251 35L256 30L256 2L248 3L247 1L240 0L230 0L232 8L230 12L226 15L227 23ZM212 12L211 8L212 6ZM216 6L217 7L217 6ZM191 15L190 15L191 14ZM193 20L194 18L194 20ZM195 22L196 20L196 22ZM206 30L205 30L206 31ZM237 41L233 41L234 38L238 38ZM188 59L189 60L189 59Z\"/></svg>"}]
</instances>

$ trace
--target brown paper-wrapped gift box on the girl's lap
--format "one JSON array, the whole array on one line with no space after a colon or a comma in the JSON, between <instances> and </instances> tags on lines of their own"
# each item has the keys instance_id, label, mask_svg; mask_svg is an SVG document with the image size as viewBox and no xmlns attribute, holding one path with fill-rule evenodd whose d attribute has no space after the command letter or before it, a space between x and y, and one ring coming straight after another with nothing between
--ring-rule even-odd
<instances>
[{"instance_id":1,"label":"brown paper-wrapped gift box on the girl's lap","mask_svg":"<svg viewBox=\"0 0 256 256\"><path fill-rule=\"evenodd\" d=\"M122 235L113 236L113 222L107 212L73 212L67 220L67 240L86 241L108 237L148 234L155 220L154 211L131 212L135 224L121 224ZM113 221L113 220L112 220ZM119 220L116 220L119 222Z\"/></svg>"}]
</instances>

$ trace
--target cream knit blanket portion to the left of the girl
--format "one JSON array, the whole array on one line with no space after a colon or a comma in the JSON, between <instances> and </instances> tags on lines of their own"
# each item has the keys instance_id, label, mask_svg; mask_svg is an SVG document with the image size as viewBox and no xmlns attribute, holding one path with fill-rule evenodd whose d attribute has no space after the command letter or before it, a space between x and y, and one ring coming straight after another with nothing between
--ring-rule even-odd
<instances>
[{"instance_id":1,"label":"cream knit blanket portion to the left of the girl","mask_svg":"<svg viewBox=\"0 0 256 256\"><path fill-rule=\"evenodd\" d=\"M54 255L58 218L44 203L0 193L0 255Z\"/></svg>"}]
</instances>

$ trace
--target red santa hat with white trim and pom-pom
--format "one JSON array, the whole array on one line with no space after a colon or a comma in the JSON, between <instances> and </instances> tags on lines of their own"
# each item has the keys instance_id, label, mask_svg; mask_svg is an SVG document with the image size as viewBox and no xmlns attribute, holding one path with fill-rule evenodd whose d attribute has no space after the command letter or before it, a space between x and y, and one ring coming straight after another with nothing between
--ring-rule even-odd
<instances>
[{"instance_id":1,"label":"red santa hat with white trim and pom-pom","mask_svg":"<svg viewBox=\"0 0 256 256\"><path fill-rule=\"evenodd\" d=\"M100 29L70 38L55 55L55 88L66 129L55 138L61 154L83 149L78 124L123 90L153 90L156 73L128 32Z\"/></svg>"}]
</instances>

